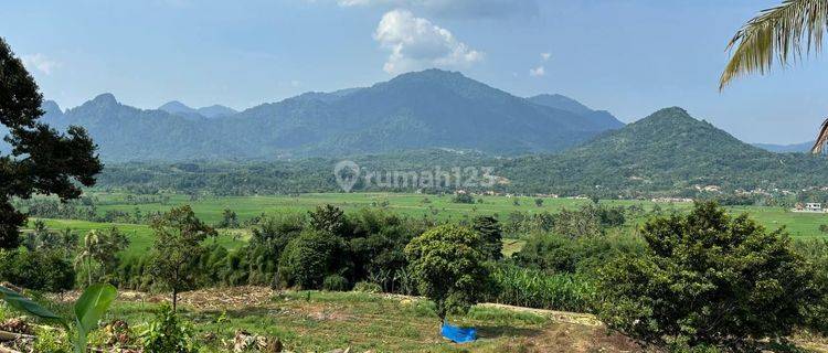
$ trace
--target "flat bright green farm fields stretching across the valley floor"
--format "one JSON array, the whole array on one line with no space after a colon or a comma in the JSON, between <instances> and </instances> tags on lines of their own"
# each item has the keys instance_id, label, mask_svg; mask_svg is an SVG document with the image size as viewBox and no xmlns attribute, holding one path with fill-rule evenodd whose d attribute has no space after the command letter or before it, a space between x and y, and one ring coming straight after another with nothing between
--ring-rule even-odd
<instances>
[{"instance_id":1,"label":"flat bright green farm fields stretching across the valley floor","mask_svg":"<svg viewBox=\"0 0 828 353\"><path fill-rule=\"evenodd\" d=\"M550 212L556 213L561 210L574 210L582 205L592 203L586 199L555 199L542 197L542 205L535 204L531 196L475 196L478 200L474 204L455 203L453 195L429 195L415 193L310 193L296 196L287 195L259 195L259 196L200 196L192 200L189 195L169 194L164 202L142 203L137 202L136 195L126 193L93 192L89 196L96 200L97 212L121 211L131 213L168 211L178 205L191 205L195 214L208 223L217 223L222 212L232 210L238 215L240 221L250 220L262 214L284 214L311 211L317 206L331 204L346 212L352 212L365 207L382 207L397 214L412 217L434 217L440 221L460 221L476 215L495 215L505 218L511 212L526 212L529 214ZM479 202L482 201L482 202ZM602 200L601 204L607 206L639 205L644 211L652 211L658 206L664 212L686 212L692 207L689 202L655 203L638 200ZM814 238L826 236L819 231L821 224L828 224L828 214L819 213L794 213L783 207L769 206L729 206L733 214L749 213L750 216L760 222L768 229L784 226L793 237ZM640 216L631 220L640 223L646 217ZM61 223L53 223L59 225ZM61 224L64 225L64 224ZM85 229L94 225L70 222L65 226ZM142 234L144 227L127 227ZM144 229L144 231L142 231ZM147 233L145 233L147 234Z\"/></svg>"}]
</instances>

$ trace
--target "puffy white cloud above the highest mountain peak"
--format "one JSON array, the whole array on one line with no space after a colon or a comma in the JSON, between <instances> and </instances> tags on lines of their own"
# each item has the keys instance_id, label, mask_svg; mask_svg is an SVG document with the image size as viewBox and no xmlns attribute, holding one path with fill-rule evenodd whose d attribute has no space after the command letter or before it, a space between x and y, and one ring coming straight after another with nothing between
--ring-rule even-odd
<instances>
[{"instance_id":1,"label":"puffy white cloud above the highest mountain peak","mask_svg":"<svg viewBox=\"0 0 828 353\"><path fill-rule=\"evenodd\" d=\"M435 66L467 67L484 56L457 41L448 30L407 10L386 12L376 26L374 40L391 51L383 66L391 74Z\"/></svg>"}]
</instances>

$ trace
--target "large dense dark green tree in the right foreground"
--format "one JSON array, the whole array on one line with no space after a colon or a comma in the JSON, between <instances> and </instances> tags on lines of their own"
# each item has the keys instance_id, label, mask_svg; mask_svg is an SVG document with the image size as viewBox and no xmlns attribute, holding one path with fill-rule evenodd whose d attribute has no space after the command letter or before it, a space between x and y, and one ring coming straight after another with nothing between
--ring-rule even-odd
<instances>
[{"instance_id":1,"label":"large dense dark green tree in the right foreground","mask_svg":"<svg viewBox=\"0 0 828 353\"><path fill-rule=\"evenodd\" d=\"M819 304L810 264L783 231L715 203L689 215L649 220L645 254L599 270L602 320L641 342L668 347L730 346L790 334Z\"/></svg>"}]
</instances>

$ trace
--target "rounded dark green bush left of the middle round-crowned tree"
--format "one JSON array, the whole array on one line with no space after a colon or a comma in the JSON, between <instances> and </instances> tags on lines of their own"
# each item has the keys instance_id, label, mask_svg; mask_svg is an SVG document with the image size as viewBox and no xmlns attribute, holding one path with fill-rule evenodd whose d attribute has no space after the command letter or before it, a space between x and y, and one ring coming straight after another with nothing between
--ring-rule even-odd
<instances>
[{"instance_id":1,"label":"rounded dark green bush left of the middle round-crowned tree","mask_svg":"<svg viewBox=\"0 0 828 353\"><path fill-rule=\"evenodd\" d=\"M279 258L279 278L288 287L319 289L340 269L342 239L327 232L306 231L291 239Z\"/></svg>"}]
</instances>

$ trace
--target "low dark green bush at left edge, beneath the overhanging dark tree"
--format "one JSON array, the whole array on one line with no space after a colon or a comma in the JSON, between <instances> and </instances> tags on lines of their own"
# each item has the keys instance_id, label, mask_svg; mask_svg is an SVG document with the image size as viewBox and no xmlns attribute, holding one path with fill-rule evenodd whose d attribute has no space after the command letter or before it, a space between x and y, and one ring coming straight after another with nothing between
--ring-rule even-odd
<instances>
[{"instance_id":1,"label":"low dark green bush at left edge, beneath the overhanging dark tree","mask_svg":"<svg viewBox=\"0 0 828 353\"><path fill-rule=\"evenodd\" d=\"M0 281L59 292L75 286L75 270L62 252L0 250Z\"/></svg>"}]
</instances>

